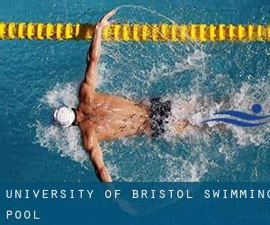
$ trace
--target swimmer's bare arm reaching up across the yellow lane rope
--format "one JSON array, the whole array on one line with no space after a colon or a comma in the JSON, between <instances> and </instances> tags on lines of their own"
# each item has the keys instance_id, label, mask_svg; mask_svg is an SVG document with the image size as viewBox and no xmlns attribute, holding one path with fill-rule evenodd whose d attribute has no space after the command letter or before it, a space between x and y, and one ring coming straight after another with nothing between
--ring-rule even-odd
<instances>
[{"instance_id":1,"label":"swimmer's bare arm reaching up across the yellow lane rope","mask_svg":"<svg viewBox=\"0 0 270 225\"><path fill-rule=\"evenodd\" d=\"M101 40L103 28L111 25L114 21L108 21L116 11L112 10L110 13L105 14L99 23L95 25L94 38L87 51L86 55L86 70L85 70L85 80L87 85L92 87L93 91L96 85L96 67L101 55Z\"/></svg>"}]
</instances>

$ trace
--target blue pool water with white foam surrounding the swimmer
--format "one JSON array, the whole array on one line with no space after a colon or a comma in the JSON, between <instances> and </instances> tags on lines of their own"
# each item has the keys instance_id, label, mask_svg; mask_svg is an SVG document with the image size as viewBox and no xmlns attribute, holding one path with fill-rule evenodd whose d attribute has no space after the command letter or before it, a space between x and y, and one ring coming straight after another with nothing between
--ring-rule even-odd
<instances>
[{"instance_id":1,"label":"blue pool water with white foam surrounding the swimmer","mask_svg":"<svg viewBox=\"0 0 270 225\"><path fill-rule=\"evenodd\" d=\"M95 23L120 7L118 23L269 23L269 1L2 1L0 21ZM49 123L75 106L86 41L0 40L0 181L93 181L78 130ZM194 123L216 110L270 114L270 45L104 42L98 90L190 105ZM175 110L175 118L183 116ZM165 139L102 143L118 181L269 181L270 122L257 129L187 130Z\"/></svg>"}]
</instances>

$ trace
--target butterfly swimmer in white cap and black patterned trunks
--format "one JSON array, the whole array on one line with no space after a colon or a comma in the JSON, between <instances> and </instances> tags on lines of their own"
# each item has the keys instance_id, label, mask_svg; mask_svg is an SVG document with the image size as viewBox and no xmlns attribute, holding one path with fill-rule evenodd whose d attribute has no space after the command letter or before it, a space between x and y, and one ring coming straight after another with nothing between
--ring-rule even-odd
<instances>
[{"instance_id":1,"label":"butterfly swimmer in white cap and black patterned trunks","mask_svg":"<svg viewBox=\"0 0 270 225\"><path fill-rule=\"evenodd\" d=\"M79 88L79 103L76 109L61 107L53 112L53 123L67 128L71 125L81 130L85 151L89 154L97 177L103 182L112 182L103 162L101 141L131 135L162 136L166 119L170 116L171 102L152 98L150 105L134 102L112 94L97 93L96 67L101 55L103 28L116 11L103 16L94 30L94 38L86 55L85 78ZM175 122L175 131L181 132L189 125L187 120Z\"/></svg>"}]
</instances>

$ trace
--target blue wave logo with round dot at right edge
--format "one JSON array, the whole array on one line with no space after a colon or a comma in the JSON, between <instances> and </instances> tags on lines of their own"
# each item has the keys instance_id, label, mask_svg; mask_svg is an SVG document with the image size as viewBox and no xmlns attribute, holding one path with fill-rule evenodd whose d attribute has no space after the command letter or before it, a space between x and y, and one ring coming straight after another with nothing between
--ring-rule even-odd
<instances>
[{"instance_id":1,"label":"blue wave logo with round dot at right edge","mask_svg":"<svg viewBox=\"0 0 270 225\"><path fill-rule=\"evenodd\" d=\"M251 107L252 112L255 114L248 114L246 112L239 111L222 111L216 112L213 115L227 115L229 117L235 117L236 119L240 119L242 121L236 120L234 118L214 118L206 121L202 121L202 123L209 121L221 121L225 123L229 123L232 125L240 126L240 127L257 127L266 124L268 122L266 119L270 118L270 115L256 115L259 112L262 112L262 106L260 104L253 104ZM244 120L244 121L243 121Z\"/></svg>"}]
</instances>

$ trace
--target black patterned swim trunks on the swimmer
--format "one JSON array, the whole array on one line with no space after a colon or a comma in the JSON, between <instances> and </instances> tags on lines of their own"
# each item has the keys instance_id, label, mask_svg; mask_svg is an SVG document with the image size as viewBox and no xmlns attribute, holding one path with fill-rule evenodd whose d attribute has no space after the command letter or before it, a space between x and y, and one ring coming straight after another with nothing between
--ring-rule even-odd
<instances>
[{"instance_id":1,"label":"black patterned swim trunks on the swimmer","mask_svg":"<svg viewBox=\"0 0 270 225\"><path fill-rule=\"evenodd\" d=\"M150 103L152 137L156 138L165 133L165 124L171 115L172 103L171 101L162 101L159 97L150 99Z\"/></svg>"}]
</instances>

